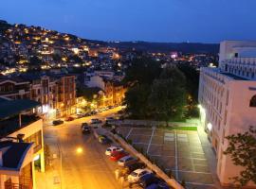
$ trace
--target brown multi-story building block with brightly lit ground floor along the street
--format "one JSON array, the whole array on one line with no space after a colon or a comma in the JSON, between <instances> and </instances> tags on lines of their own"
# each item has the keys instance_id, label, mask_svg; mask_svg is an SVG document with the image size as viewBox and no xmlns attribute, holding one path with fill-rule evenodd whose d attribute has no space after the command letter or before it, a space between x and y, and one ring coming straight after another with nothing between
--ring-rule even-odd
<instances>
[{"instance_id":1,"label":"brown multi-story building block with brightly lit ground floor along the street","mask_svg":"<svg viewBox=\"0 0 256 189\"><path fill-rule=\"evenodd\" d=\"M0 97L40 102L37 110L45 120L76 112L76 77L73 75L25 74L0 78Z\"/></svg>"}]
</instances>

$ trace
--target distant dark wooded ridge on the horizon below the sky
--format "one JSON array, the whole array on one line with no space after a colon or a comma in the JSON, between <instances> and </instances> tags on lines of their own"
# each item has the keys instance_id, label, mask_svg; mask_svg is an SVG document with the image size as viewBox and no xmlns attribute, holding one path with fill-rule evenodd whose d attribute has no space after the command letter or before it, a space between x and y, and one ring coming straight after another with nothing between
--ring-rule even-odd
<instances>
[{"instance_id":1,"label":"distant dark wooded ridge on the horizon below the sky","mask_svg":"<svg viewBox=\"0 0 256 189\"><path fill-rule=\"evenodd\" d=\"M219 44L217 43L147 43L147 42L119 42L109 43L112 47L121 49L132 49L149 52L179 51L182 53L210 53L217 54Z\"/></svg>"}]
</instances>

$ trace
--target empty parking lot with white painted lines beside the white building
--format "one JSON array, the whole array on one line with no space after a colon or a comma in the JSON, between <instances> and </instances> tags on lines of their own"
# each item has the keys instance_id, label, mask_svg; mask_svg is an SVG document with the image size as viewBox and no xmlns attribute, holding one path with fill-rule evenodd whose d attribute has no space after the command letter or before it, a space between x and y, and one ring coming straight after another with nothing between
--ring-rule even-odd
<instances>
[{"instance_id":1,"label":"empty parking lot with white painted lines beside the white building","mask_svg":"<svg viewBox=\"0 0 256 189\"><path fill-rule=\"evenodd\" d=\"M190 188L215 188L209 164L197 131L119 127L118 131L134 146Z\"/></svg>"}]
</instances>

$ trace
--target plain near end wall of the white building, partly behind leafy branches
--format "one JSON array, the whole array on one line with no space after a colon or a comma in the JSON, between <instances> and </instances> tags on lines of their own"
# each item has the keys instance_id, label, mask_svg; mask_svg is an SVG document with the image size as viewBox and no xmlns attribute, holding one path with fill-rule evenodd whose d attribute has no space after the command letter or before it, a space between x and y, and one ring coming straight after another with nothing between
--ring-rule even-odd
<instances>
[{"instance_id":1,"label":"plain near end wall of the white building, partly behind leafy branches","mask_svg":"<svg viewBox=\"0 0 256 189\"><path fill-rule=\"evenodd\" d=\"M256 82L241 81L232 82L229 85L229 106L228 106L228 120L225 128L225 136L231 134L243 133L249 129L250 126L256 127L256 108L249 107L249 101L256 90L249 90L249 88L256 89ZM229 156L221 155L222 151L226 150L229 146L228 141L224 140L222 147L219 149L220 172L218 174L222 184L228 185L229 178L239 176L243 167L234 165ZM250 183L248 186L255 186L256 184Z\"/></svg>"}]
</instances>

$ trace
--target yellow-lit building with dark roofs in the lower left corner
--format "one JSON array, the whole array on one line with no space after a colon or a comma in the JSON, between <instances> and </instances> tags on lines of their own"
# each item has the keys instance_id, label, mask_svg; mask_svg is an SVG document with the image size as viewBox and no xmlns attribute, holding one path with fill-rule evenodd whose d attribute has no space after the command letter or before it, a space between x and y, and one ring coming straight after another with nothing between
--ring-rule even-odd
<instances>
[{"instance_id":1,"label":"yellow-lit building with dark roofs in the lower left corner","mask_svg":"<svg viewBox=\"0 0 256 189\"><path fill-rule=\"evenodd\" d=\"M29 99L1 99L0 188L35 188L35 169L45 172L43 120L34 113L39 107Z\"/></svg>"}]
</instances>

